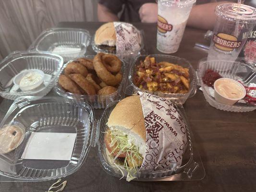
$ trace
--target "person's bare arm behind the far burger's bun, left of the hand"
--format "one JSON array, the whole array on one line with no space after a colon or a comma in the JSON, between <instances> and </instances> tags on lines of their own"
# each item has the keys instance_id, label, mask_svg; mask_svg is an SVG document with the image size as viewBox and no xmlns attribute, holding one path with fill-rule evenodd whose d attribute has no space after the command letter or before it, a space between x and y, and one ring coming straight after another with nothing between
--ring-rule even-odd
<instances>
[{"instance_id":1,"label":"person's bare arm behind the far burger's bun, left of the hand","mask_svg":"<svg viewBox=\"0 0 256 192\"><path fill-rule=\"evenodd\" d=\"M107 7L98 3L98 21L113 22L119 21L116 14L112 13Z\"/></svg>"}]
</instances>

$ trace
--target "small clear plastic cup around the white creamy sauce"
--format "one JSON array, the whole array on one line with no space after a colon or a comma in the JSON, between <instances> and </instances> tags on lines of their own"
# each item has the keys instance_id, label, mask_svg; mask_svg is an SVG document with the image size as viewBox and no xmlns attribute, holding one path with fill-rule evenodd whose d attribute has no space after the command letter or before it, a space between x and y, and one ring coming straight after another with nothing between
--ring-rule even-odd
<instances>
[{"instance_id":1,"label":"small clear plastic cup around the white creamy sauce","mask_svg":"<svg viewBox=\"0 0 256 192\"><path fill-rule=\"evenodd\" d=\"M42 78L40 81L38 81L37 83L35 84L32 84L32 85L29 85L29 86L21 86L20 85L20 81L21 79L28 73L30 72L37 72L39 73ZM23 92L25 91L32 91L34 89L36 89L37 87L39 87L43 82L44 82L44 76L45 76L45 73L42 72L41 70L38 70L38 69L31 69L31 70L25 70L23 72L20 72L19 74L17 74L14 78L13 78L13 84L17 85Z\"/></svg>"}]
</instances>

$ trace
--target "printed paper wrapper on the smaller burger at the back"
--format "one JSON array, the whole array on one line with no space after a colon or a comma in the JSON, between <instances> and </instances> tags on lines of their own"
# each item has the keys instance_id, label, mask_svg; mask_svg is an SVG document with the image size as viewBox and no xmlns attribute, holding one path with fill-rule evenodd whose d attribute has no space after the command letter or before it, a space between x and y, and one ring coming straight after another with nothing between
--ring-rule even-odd
<instances>
[{"instance_id":1,"label":"printed paper wrapper on the smaller burger at the back","mask_svg":"<svg viewBox=\"0 0 256 192\"><path fill-rule=\"evenodd\" d=\"M141 47L141 36L132 24L114 22L116 31L116 53L132 53Z\"/></svg>"}]
</instances>

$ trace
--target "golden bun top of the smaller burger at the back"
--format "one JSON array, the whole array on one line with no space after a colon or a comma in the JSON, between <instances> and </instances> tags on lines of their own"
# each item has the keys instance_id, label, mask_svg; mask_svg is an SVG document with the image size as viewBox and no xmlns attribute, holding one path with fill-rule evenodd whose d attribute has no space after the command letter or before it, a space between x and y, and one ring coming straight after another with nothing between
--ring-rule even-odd
<instances>
[{"instance_id":1,"label":"golden bun top of the smaller burger at the back","mask_svg":"<svg viewBox=\"0 0 256 192\"><path fill-rule=\"evenodd\" d=\"M101 25L95 33L96 45L116 46L116 31L113 22Z\"/></svg>"}]
</instances>

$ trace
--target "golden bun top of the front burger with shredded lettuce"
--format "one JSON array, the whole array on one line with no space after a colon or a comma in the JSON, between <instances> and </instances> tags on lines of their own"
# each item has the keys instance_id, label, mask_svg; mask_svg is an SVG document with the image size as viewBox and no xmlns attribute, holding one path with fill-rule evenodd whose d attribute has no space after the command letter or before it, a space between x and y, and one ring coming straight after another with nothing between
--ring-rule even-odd
<instances>
[{"instance_id":1,"label":"golden bun top of the front burger with shredded lettuce","mask_svg":"<svg viewBox=\"0 0 256 192\"><path fill-rule=\"evenodd\" d=\"M139 96L122 99L112 110L108 126L128 135L128 139L139 147L141 155L146 152L146 127Z\"/></svg>"}]
</instances>

